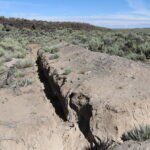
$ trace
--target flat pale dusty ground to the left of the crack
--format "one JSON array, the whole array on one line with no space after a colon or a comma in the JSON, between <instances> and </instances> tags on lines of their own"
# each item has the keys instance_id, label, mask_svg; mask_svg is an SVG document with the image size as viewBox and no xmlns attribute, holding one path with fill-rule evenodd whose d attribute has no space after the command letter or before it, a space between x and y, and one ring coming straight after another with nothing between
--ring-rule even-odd
<instances>
[{"instance_id":1,"label":"flat pale dusty ground to the left of the crack","mask_svg":"<svg viewBox=\"0 0 150 150\"><path fill-rule=\"evenodd\" d=\"M37 45L30 45L35 66L26 69L33 84L0 89L1 150L82 150L88 145L78 126L62 121L44 92L36 66ZM49 91L51 92L51 91ZM81 142L80 145L76 143Z\"/></svg>"}]
</instances>

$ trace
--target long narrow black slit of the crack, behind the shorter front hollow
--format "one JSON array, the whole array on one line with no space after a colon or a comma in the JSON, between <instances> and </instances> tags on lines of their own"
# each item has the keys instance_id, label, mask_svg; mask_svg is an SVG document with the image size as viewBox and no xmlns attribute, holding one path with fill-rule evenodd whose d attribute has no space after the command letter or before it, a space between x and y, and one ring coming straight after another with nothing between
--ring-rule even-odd
<instances>
[{"instance_id":1,"label":"long narrow black slit of the crack, behind the shorter front hollow","mask_svg":"<svg viewBox=\"0 0 150 150\"><path fill-rule=\"evenodd\" d=\"M58 97L56 96L55 92L53 91L53 89L52 89L52 87L51 87L51 85L49 83L49 80L46 78L39 58L37 59L36 63L37 63L37 66L38 66L39 79L44 85L44 92L45 92L45 95L46 95L47 99L52 103L56 114L61 119L63 119L63 121L67 121L66 115L65 115L64 110L62 108L60 100L58 99Z\"/></svg>"}]
</instances>

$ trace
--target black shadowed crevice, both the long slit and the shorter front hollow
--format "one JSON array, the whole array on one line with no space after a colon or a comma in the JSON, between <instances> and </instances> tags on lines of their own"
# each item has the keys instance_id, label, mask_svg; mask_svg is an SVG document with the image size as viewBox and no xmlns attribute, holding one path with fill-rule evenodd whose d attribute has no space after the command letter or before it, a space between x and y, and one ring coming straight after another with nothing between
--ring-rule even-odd
<instances>
[{"instance_id":1,"label":"black shadowed crevice, both the long slit and the shorter front hollow","mask_svg":"<svg viewBox=\"0 0 150 150\"><path fill-rule=\"evenodd\" d=\"M44 85L44 92L46 97L50 100L53 107L55 108L56 114L67 121L68 109L65 106L65 98L61 95L60 87L54 83L53 77L48 75L48 71L44 69L40 58L37 60L38 74L40 81ZM70 107L77 113L78 126L80 131L83 133L85 138L91 143L96 144L96 140L90 130L90 118L92 117L92 106L88 103L89 99L85 95L79 95L78 99L85 99L86 104L81 106L80 109L72 102L73 98L76 97L76 93L72 93L70 98Z\"/></svg>"}]
</instances>

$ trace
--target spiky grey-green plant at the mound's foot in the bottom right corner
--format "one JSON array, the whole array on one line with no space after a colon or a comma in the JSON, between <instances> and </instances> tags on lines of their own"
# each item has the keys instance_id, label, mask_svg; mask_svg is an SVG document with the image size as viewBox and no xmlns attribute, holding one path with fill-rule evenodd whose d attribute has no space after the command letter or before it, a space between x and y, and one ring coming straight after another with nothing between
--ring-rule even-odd
<instances>
[{"instance_id":1,"label":"spiky grey-green plant at the mound's foot in the bottom right corner","mask_svg":"<svg viewBox=\"0 0 150 150\"><path fill-rule=\"evenodd\" d=\"M123 141L146 141L148 139L150 139L150 125L140 125L122 136Z\"/></svg>"}]
</instances>

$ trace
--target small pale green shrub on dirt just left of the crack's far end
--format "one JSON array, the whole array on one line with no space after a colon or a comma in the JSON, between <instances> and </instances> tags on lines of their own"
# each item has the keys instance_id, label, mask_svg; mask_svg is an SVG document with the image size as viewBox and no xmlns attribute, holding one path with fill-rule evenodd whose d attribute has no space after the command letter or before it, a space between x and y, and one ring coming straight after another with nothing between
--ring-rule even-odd
<instances>
[{"instance_id":1,"label":"small pale green shrub on dirt just left of the crack's far end","mask_svg":"<svg viewBox=\"0 0 150 150\"><path fill-rule=\"evenodd\" d=\"M29 68L34 65L34 62L31 59L23 59L23 60L17 60L15 63L16 68L22 69L22 68Z\"/></svg>"}]
</instances>

